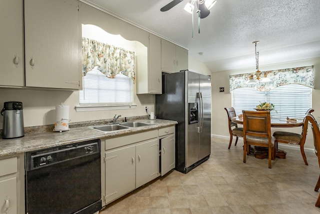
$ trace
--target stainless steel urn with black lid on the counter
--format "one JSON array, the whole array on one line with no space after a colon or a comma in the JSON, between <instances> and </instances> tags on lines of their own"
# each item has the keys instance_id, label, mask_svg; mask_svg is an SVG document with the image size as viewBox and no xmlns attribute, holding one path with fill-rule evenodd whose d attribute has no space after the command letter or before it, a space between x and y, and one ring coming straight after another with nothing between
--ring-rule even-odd
<instances>
[{"instance_id":1,"label":"stainless steel urn with black lid on the counter","mask_svg":"<svg viewBox=\"0 0 320 214\"><path fill-rule=\"evenodd\" d=\"M4 102L1 115L3 116L2 138L24 136L23 106L19 101Z\"/></svg>"}]
</instances>

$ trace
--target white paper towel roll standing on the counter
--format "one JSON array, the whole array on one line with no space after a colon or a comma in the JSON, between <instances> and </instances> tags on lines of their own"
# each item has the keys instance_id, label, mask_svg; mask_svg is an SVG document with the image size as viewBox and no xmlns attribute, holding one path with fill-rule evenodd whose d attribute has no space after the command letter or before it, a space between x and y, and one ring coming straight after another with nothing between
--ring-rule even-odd
<instances>
[{"instance_id":1,"label":"white paper towel roll standing on the counter","mask_svg":"<svg viewBox=\"0 0 320 214\"><path fill-rule=\"evenodd\" d=\"M55 106L55 123L53 131L69 130L69 106L56 105Z\"/></svg>"}]
</instances>

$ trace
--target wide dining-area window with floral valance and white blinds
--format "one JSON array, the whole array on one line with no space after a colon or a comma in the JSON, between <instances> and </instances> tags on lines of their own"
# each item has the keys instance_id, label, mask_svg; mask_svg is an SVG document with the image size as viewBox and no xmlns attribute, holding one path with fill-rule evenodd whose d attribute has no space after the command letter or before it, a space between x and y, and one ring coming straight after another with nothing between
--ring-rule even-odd
<instances>
[{"instance_id":1,"label":"wide dining-area window with floral valance and white blinds","mask_svg":"<svg viewBox=\"0 0 320 214\"><path fill-rule=\"evenodd\" d=\"M313 66L264 71L270 82L247 84L255 73L230 75L231 104L236 114L253 110L262 102L272 103L271 117L303 118L312 107Z\"/></svg>"}]
</instances>

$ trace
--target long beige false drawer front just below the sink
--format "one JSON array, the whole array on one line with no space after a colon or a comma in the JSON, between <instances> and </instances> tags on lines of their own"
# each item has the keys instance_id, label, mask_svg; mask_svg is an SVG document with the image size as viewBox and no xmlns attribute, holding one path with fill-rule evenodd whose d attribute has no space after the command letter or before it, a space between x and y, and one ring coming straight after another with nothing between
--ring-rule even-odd
<instances>
[{"instance_id":1,"label":"long beige false drawer front just below the sink","mask_svg":"<svg viewBox=\"0 0 320 214\"><path fill-rule=\"evenodd\" d=\"M131 143L137 143L158 136L158 130L145 131L135 134L129 134L120 137L108 138L105 140L105 150L125 146Z\"/></svg>"}]
</instances>

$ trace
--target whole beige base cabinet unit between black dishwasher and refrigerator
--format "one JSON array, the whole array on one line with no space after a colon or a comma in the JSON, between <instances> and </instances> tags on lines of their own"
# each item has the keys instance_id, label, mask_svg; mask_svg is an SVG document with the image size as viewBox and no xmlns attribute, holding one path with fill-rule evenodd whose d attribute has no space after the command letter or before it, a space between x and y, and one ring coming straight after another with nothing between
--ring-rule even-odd
<instances>
[{"instance_id":1,"label":"whole beige base cabinet unit between black dishwasher and refrigerator","mask_svg":"<svg viewBox=\"0 0 320 214\"><path fill-rule=\"evenodd\" d=\"M174 168L174 141L174 126L101 139L102 206Z\"/></svg>"}]
</instances>

